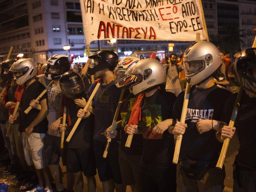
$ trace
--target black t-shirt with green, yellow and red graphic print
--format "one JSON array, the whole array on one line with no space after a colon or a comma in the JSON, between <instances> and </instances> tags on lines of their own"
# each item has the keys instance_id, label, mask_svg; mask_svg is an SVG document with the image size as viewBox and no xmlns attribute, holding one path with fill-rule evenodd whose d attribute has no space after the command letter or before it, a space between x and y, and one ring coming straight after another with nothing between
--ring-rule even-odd
<instances>
[{"instance_id":1,"label":"black t-shirt with green, yellow and red graphic print","mask_svg":"<svg viewBox=\"0 0 256 192\"><path fill-rule=\"evenodd\" d=\"M163 134L152 133L152 129L163 120L171 118L176 96L171 92L157 90L152 96L145 97L141 107L141 122L143 129L144 162L168 163L174 151L174 139L167 130Z\"/></svg>"}]
</instances>

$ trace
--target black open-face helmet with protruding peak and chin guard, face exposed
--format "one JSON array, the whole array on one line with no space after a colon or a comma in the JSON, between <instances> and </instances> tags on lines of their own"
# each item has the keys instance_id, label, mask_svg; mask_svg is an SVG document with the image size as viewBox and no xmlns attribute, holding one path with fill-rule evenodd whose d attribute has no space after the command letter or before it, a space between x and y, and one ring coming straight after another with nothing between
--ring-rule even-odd
<instances>
[{"instance_id":1,"label":"black open-face helmet with protruding peak and chin guard, face exposed","mask_svg":"<svg viewBox=\"0 0 256 192\"><path fill-rule=\"evenodd\" d=\"M114 70L118 63L118 55L109 50L100 50L95 54L89 56L90 59L97 59L98 65L93 68L88 68L89 75L95 74L95 72L100 71L102 69L109 68L109 70Z\"/></svg>"}]
</instances>

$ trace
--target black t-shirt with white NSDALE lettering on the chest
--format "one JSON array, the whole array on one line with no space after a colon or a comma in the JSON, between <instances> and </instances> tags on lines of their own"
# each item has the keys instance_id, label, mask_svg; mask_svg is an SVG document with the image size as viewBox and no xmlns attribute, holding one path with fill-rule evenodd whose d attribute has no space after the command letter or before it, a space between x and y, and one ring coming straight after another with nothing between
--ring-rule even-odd
<instances>
[{"instance_id":1,"label":"black t-shirt with white NSDALE lettering on the chest","mask_svg":"<svg viewBox=\"0 0 256 192\"><path fill-rule=\"evenodd\" d=\"M198 120L221 120L224 103L231 92L213 85L208 89L191 88L187 107L187 129L183 135L179 159L189 158L198 161L198 165L215 166L219 157L222 143L215 137L215 130L210 130L200 135L196 124ZM178 95L173 107L173 117L180 119L184 92Z\"/></svg>"}]
</instances>

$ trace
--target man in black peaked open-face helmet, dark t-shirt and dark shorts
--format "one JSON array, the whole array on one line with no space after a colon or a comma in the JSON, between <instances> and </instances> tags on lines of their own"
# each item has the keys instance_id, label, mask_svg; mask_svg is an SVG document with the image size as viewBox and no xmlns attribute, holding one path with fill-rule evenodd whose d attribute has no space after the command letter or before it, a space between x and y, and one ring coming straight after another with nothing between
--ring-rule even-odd
<instances>
[{"instance_id":1,"label":"man in black peaked open-face helmet, dark t-shirt and dark shorts","mask_svg":"<svg viewBox=\"0 0 256 192\"><path fill-rule=\"evenodd\" d=\"M88 69L89 74L95 75L96 78L101 78L100 81L102 81L93 102L95 113L93 138L98 175L102 182L104 192L112 192L114 188L117 192L124 192L126 187L122 184L118 163L119 143L117 141L111 142L107 158L102 157L107 143L107 139L104 137L104 131L112 124L121 94L121 90L117 89L113 81L113 70L119 58L115 52L109 50L100 50L90 55L89 58L94 59L94 67ZM87 98L91 96L95 86L96 82L89 88ZM83 109L78 111L78 117L85 118L86 115L87 113Z\"/></svg>"}]
</instances>

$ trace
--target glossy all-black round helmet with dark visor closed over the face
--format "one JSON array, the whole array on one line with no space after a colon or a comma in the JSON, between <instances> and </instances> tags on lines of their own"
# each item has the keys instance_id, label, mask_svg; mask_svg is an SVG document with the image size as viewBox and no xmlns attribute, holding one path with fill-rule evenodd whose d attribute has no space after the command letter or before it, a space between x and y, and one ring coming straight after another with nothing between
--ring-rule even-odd
<instances>
[{"instance_id":1,"label":"glossy all-black round helmet with dark visor closed over the face","mask_svg":"<svg viewBox=\"0 0 256 192\"><path fill-rule=\"evenodd\" d=\"M77 72L65 72L59 79L59 85L67 98L78 99L85 94L85 84Z\"/></svg>"}]
</instances>

